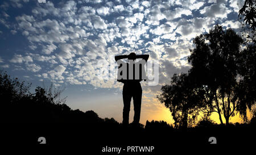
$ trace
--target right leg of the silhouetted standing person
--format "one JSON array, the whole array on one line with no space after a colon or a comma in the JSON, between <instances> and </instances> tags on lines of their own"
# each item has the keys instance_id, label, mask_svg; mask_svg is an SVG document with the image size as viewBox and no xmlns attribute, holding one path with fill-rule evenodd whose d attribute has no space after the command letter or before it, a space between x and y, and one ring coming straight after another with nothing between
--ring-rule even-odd
<instances>
[{"instance_id":1,"label":"right leg of the silhouetted standing person","mask_svg":"<svg viewBox=\"0 0 256 155\"><path fill-rule=\"evenodd\" d=\"M138 124L141 118L141 99L142 99L142 88L141 84L135 87L133 93L133 106L134 106L134 118L133 123Z\"/></svg>"}]
</instances>

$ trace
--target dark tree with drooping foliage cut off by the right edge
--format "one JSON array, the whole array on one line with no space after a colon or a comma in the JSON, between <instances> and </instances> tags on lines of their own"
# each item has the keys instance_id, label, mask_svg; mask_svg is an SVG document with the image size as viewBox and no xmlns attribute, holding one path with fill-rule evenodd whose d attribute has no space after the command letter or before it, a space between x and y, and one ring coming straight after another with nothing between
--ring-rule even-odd
<instances>
[{"instance_id":1,"label":"dark tree with drooping foliage cut off by the right edge","mask_svg":"<svg viewBox=\"0 0 256 155\"><path fill-rule=\"evenodd\" d=\"M237 96L240 98L239 104L240 115L243 120L247 121L247 108L255 118L255 68L256 68L256 46L255 46L255 17L256 17L256 1L246 0L243 7L238 12L239 19L242 23L242 35L245 39L245 49L240 53L238 73L242 79L237 89Z\"/></svg>"}]
</instances>

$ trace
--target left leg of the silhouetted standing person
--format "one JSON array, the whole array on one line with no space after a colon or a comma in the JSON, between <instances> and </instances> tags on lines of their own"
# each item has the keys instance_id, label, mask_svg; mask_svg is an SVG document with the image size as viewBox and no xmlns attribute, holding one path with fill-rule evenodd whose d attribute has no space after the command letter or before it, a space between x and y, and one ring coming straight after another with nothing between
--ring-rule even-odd
<instances>
[{"instance_id":1,"label":"left leg of the silhouetted standing person","mask_svg":"<svg viewBox=\"0 0 256 155\"><path fill-rule=\"evenodd\" d=\"M129 124L130 105L131 93L126 86L123 86L123 125Z\"/></svg>"}]
</instances>

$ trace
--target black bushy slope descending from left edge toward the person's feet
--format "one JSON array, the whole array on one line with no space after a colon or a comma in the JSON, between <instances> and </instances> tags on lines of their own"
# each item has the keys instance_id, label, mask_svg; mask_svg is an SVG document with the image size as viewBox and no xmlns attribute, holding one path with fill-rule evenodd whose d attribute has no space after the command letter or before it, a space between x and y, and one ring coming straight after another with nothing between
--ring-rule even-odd
<instances>
[{"instance_id":1,"label":"black bushy slope descending from left edge toward the person's feet","mask_svg":"<svg viewBox=\"0 0 256 155\"><path fill-rule=\"evenodd\" d=\"M51 133L55 129L94 130L118 128L113 118L101 119L94 111L71 110L60 99L60 90L36 87L30 92L30 83L19 82L7 73L0 74L0 98L4 126L15 132ZM81 127L81 128L80 128ZM19 135L19 134L18 134Z\"/></svg>"}]
</instances>

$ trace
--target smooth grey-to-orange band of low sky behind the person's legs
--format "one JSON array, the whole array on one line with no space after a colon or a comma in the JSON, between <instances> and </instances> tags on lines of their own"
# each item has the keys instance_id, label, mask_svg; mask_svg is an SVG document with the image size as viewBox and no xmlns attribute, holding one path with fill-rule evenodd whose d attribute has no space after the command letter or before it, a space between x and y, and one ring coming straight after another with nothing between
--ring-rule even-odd
<instances>
[{"instance_id":1,"label":"smooth grey-to-orange band of low sky behind the person's legs","mask_svg":"<svg viewBox=\"0 0 256 155\"><path fill-rule=\"evenodd\" d=\"M67 102L73 110L79 108L81 111L93 110L101 118L114 118L119 123L122 122L122 109L123 100L122 94L117 95L100 95L100 97L86 98L85 97L72 97L68 98ZM131 100L131 110L130 110L130 122L133 121L133 100ZM248 118L250 118L249 112L247 112ZM213 112L212 119L220 124L217 112ZM141 120L140 123L146 124L146 121L151 120L164 120L169 124L174 124L171 112L161 104L155 95L147 97L147 94L143 94L142 97L142 107L141 107ZM222 116L222 120L225 123L225 118ZM230 123L242 123L242 119L239 114L230 119Z\"/></svg>"}]
</instances>

